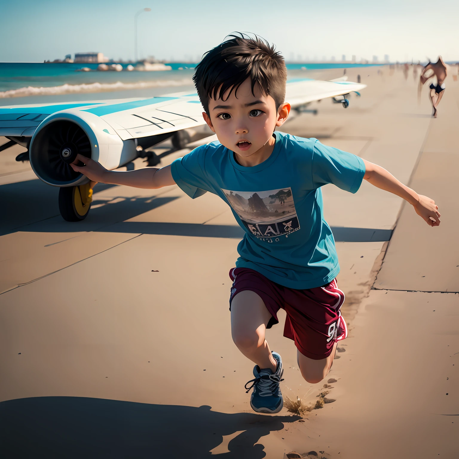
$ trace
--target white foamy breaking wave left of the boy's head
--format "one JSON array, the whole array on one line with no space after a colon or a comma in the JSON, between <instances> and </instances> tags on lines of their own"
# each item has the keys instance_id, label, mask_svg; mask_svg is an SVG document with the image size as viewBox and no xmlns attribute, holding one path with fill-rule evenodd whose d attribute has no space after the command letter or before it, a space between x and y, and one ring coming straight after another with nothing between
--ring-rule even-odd
<instances>
[{"instance_id":1,"label":"white foamy breaking wave left of the boy's head","mask_svg":"<svg viewBox=\"0 0 459 459\"><path fill-rule=\"evenodd\" d=\"M131 89L146 89L146 88L167 88L174 86L192 85L191 79L184 78L180 80L153 80L139 81L136 83L90 83L90 84L62 84L62 86L50 86L48 88L36 88L28 86L27 88L19 88L9 91L0 91L0 99L9 97L26 97L29 95L58 95L58 94L80 94L91 92L109 92L123 91Z\"/></svg>"}]
</instances>

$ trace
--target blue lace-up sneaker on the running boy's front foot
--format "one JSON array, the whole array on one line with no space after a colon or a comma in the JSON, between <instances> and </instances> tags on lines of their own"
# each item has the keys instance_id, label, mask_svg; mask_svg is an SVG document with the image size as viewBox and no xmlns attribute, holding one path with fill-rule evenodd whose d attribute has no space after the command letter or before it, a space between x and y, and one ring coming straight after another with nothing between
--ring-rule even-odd
<instances>
[{"instance_id":1,"label":"blue lace-up sneaker on the running boy's front foot","mask_svg":"<svg viewBox=\"0 0 459 459\"><path fill-rule=\"evenodd\" d=\"M253 392L250 397L250 406L257 413L279 413L284 406L284 399L280 392L279 383L284 381L282 374L282 358L277 352L273 352L273 357L277 361L275 373L270 368L261 369L258 365L253 368L255 379L248 381L245 385L246 393L253 387ZM247 384L252 382L252 386L247 388Z\"/></svg>"}]
</instances>

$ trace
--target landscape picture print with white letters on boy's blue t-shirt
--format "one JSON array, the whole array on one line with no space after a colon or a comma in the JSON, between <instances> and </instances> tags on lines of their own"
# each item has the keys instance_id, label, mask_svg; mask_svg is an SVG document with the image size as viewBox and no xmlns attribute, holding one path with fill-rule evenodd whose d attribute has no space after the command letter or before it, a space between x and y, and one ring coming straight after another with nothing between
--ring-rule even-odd
<instances>
[{"instance_id":1,"label":"landscape picture print with white letters on boy's blue t-shirt","mask_svg":"<svg viewBox=\"0 0 459 459\"><path fill-rule=\"evenodd\" d=\"M242 223L254 236L275 237L300 229L291 188L222 191Z\"/></svg>"}]
</instances>

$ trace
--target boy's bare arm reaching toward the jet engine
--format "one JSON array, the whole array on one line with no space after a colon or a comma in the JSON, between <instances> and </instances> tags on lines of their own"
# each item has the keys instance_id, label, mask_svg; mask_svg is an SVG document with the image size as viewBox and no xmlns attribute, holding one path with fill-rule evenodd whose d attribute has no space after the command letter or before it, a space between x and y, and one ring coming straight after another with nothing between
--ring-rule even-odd
<instances>
[{"instance_id":1,"label":"boy's bare arm reaching toward the jet engine","mask_svg":"<svg viewBox=\"0 0 459 459\"><path fill-rule=\"evenodd\" d=\"M170 166L164 168L143 168L135 171L109 171L99 162L82 155L77 155L76 162L81 161L84 166L71 164L76 172L86 175L93 182L111 183L114 185L134 186L135 188L162 188L175 185Z\"/></svg>"}]
</instances>

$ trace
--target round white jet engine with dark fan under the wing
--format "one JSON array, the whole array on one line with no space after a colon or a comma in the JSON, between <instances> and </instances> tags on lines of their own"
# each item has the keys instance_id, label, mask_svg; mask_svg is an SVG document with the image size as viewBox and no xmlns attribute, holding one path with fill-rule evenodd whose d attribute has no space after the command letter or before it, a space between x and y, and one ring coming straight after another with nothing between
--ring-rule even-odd
<instances>
[{"instance_id":1,"label":"round white jet engine with dark fan under the wing","mask_svg":"<svg viewBox=\"0 0 459 459\"><path fill-rule=\"evenodd\" d=\"M137 157L133 139L121 140L115 130L93 113L56 112L37 127L30 142L30 165L48 185L74 186L88 182L70 163L79 153L116 169Z\"/></svg>"}]
</instances>

